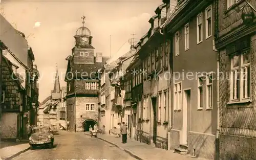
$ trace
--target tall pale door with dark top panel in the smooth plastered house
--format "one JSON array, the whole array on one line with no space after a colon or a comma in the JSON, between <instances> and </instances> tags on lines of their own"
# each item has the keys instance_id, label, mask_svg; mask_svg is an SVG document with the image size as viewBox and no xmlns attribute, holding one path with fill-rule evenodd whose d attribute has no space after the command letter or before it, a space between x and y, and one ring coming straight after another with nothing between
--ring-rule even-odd
<instances>
[{"instance_id":1,"label":"tall pale door with dark top panel in the smooth plastered house","mask_svg":"<svg viewBox=\"0 0 256 160\"><path fill-rule=\"evenodd\" d=\"M187 117L188 117L188 110L190 110L190 89L184 89L184 96L183 96L183 121L182 121L182 139L181 143L183 145L187 144Z\"/></svg>"}]
</instances>

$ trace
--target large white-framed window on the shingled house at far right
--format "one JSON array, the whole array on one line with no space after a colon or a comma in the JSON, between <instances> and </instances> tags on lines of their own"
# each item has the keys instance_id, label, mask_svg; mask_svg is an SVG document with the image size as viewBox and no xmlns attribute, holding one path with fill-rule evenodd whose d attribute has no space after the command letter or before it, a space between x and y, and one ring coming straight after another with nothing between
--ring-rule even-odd
<instances>
[{"instance_id":1,"label":"large white-framed window on the shingled house at far right","mask_svg":"<svg viewBox=\"0 0 256 160\"><path fill-rule=\"evenodd\" d=\"M251 69L250 53L245 51L241 55L231 58L230 73L230 100L231 102L243 102L251 97Z\"/></svg>"}]
</instances>

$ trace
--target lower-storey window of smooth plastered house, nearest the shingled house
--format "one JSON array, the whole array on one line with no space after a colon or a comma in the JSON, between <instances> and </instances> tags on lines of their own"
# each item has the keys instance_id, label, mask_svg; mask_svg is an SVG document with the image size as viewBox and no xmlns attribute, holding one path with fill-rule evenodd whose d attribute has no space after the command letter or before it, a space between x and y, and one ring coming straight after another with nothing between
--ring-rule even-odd
<instances>
[{"instance_id":1,"label":"lower-storey window of smooth plastered house, nearest the shingled house","mask_svg":"<svg viewBox=\"0 0 256 160\"><path fill-rule=\"evenodd\" d=\"M207 109L212 108L212 73L207 74L207 79L206 79L206 86L207 86L207 95L206 95L206 107Z\"/></svg>"}]
</instances>

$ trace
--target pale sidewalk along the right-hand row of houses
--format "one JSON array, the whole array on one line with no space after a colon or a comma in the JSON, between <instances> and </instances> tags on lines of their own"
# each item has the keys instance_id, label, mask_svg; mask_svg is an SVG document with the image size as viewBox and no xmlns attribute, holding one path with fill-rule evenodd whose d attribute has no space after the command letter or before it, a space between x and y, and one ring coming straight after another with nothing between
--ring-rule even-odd
<instances>
[{"instance_id":1,"label":"pale sidewalk along the right-hand row of houses","mask_svg":"<svg viewBox=\"0 0 256 160\"><path fill-rule=\"evenodd\" d=\"M87 134L88 133L84 133ZM156 160L156 159L169 159L169 160L192 160L192 159L201 159L193 158L190 155L180 155L174 153L172 150L164 150L160 148L155 148L152 145L147 145L145 143L140 143L139 141L133 139L127 139L127 143L123 144L121 138L115 138L113 135L109 134L98 134L98 139L108 142L121 150L129 153L137 159L143 160ZM202 159L201 159L202 160Z\"/></svg>"}]
</instances>

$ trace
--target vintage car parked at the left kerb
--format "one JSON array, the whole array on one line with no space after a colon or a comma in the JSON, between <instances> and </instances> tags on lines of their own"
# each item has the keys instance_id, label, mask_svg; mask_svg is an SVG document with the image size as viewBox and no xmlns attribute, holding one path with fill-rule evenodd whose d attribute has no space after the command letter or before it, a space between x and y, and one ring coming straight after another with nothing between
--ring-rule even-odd
<instances>
[{"instance_id":1,"label":"vintage car parked at the left kerb","mask_svg":"<svg viewBox=\"0 0 256 160\"><path fill-rule=\"evenodd\" d=\"M48 127L34 127L29 138L30 149L37 146L53 148L54 137Z\"/></svg>"}]
</instances>

